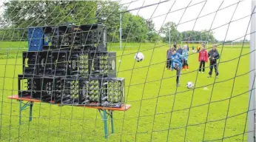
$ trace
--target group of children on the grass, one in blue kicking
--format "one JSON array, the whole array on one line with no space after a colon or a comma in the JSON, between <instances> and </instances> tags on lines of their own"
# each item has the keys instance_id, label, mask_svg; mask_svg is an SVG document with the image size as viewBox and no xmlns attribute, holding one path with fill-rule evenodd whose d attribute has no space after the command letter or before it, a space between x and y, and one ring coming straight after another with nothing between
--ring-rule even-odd
<instances>
[{"instance_id":1,"label":"group of children on the grass, one in blue kicking","mask_svg":"<svg viewBox=\"0 0 256 142\"><path fill-rule=\"evenodd\" d=\"M212 77L212 70L215 68L215 75L216 78L218 78L219 72L218 72L218 65L217 60L220 58L220 54L218 53L217 46L214 45L212 47L212 50L207 53L207 50L205 50L205 44L201 44L202 47L200 47L199 55L198 55L198 61L199 61L199 73L204 73L205 71L205 64L210 61L209 65L209 76L208 78ZM188 57L189 57L189 50L188 46L184 45L183 49L181 49L181 46L178 45L178 50L176 50L175 47L170 47L169 50L167 50L166 53L166 70L176 70L176 84L177 87L180 86L180 76L181 76L181 69L182 70L189 70L189 64L188 64ZM192 47L192 52L193 51ZM198 50L198 49L197 49Z\"/></svg>"}]
</instances>

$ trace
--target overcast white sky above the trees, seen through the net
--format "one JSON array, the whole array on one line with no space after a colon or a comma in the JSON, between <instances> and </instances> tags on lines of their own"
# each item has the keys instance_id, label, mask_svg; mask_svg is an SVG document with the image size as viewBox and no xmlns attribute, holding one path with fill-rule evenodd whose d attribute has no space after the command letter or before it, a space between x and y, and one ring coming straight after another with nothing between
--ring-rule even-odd
<instances>
[{"instance_id":1,"label":"overcast white sky above the trees, seen through the net","mask_svg":"<svg viewBox=\"0 0 256 142\"><path fill-rule=\"evenodd\" d=\"M132 0L121 0L121 3L125 4L127 7L129 6L129 10L132 10L164 0L133 0L134 2L132 3L131 1ZM167 21L174 21L176 24L180 23L178 24L178 30L181 32L184 30L212 30L215 38L218 40L224 40L225 36L226 40L235 40L237 38L241 40L246 33L250 33L250 27L247 32L246 30L249 24L249 15L252 13L252 0L240 1L240 3L237 4L238 1L239 0L169 0L152 7L133 10L132 14L138 14L146 19L152 18L156 30L159 30ZM216 14L217 10L218 12ZM207 14L209 15L206 16ZM234 16L232 17L233 14ZM195 19L198 16L199 18L195 23ZM239 18L242 19L238 20ZM231 20L233 22L229 24ZM223 24L226 25L220 27ZM249 39L249 36L246 36L246 38Z\"/></svg>"}]
</instances>

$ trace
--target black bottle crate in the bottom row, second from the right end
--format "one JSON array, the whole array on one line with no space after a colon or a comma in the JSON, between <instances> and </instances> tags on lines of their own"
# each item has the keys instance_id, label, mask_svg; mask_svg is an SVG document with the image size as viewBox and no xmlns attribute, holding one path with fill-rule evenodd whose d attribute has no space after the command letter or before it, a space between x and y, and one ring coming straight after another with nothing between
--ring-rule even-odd
<instances>
[{"instance_id":1,"label":"black bottle crate in the bottom row, second from the right end","mask_svg":"<svg viewBox=\"0 0 256 142\"><path fill-rule=\"evenodd\" d=\"M101 80L98 78L90 78L85 81L85 86L81 91L81 103L84 106L100 106L101 100Z\"/></svg>"}]
</instances>

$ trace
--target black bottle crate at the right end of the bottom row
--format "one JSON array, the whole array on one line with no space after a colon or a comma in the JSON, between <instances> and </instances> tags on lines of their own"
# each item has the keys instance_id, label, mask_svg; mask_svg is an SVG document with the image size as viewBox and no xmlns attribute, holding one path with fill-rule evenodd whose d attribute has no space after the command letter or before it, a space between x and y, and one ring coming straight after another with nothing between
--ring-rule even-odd
<instances>
[{"instance_id":1,"label":"black bottle crate at the right end of the bottom row","mask_svg":"<svg viewBox=\"0 0 256 142\"><path fill-rule=\"evenodd\" d=\"M103 78L101 106L121 107L124 104L124 87L124 78Z\"/></svg>"}]
</instances>

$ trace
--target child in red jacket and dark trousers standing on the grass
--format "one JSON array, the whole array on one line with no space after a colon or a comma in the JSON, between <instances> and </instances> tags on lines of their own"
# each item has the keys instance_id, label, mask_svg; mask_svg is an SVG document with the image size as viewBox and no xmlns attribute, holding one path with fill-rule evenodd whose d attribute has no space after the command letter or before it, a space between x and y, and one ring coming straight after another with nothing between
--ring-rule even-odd
<instances>
[{"instance_id":1,"label":"child in red jacket and dark trousers standing on the grass","mask_svg":"<svg viewBox=\"0 0 256 142\"><path fill-rule=\"evenodd\" d=\"M201 71L202 73L204 73L206 63L208 62L208 53L207 53L207 50L205 50L204 48L205 48L205 44L202 44L202 50L199 52L199 55L198 55L198 61L200 63L199 73ZM202 70L202 66L203 66L203 70Z\"/></svg>"}]
</instances>

